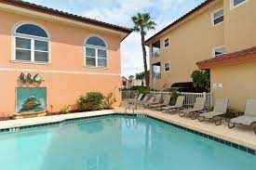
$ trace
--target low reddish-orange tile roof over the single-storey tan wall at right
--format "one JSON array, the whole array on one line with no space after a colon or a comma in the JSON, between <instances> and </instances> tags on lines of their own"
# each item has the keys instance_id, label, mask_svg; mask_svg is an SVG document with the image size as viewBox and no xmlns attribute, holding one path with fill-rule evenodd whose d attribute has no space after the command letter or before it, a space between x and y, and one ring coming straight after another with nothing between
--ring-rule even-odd
<instances>
[{"instance_id":1,"label":"low reddish-orange tile roof over the single-storey tan wall at right","mask_svg":"<svg viewBox=\"0 0 256 170\"><path fill-rule=\"evenodd\" d=\"M213 59L206 59L196 63L199 69L206 70L213 67L240 64L245 62L256 62L256 46L229 53Z\"/></svg>"}]
</instances>

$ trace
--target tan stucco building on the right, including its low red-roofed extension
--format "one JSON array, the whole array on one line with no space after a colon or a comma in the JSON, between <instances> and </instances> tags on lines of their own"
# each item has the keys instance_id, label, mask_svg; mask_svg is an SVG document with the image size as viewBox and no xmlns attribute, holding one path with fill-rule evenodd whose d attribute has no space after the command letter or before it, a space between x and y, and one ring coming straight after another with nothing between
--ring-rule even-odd
<instances>
[{"instance_id":1,"label":"tan stucco building on the right, including its low red-roofed extension","mask_svg":"<svg viewBox=\"0 0 256 170\"><path fill-rule=\"evenodd\" d=\"M213 96L244 111L246 100L256 98L255 16L255 0L206 0L155 33L146 41L151 87L192 82L198 65L210 70Z\"/></svg>"}]
</instances>

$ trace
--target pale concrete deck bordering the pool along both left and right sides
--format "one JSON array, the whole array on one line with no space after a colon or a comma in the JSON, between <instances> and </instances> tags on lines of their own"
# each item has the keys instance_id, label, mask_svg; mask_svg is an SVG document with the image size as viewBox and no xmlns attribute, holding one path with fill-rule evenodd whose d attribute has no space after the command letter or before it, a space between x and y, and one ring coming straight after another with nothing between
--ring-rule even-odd
<instances>
[{"instance_id":1,"label":"pale concrete deck bordering the pool along both left and right sides","mask_svg":"<svg viewBox=\"0 0 256 170\"><path fill-rule=\"evenodd\" d=\"M17 130L16 128L21 126L36 125L36 124L49 124L49 123L58 123L64 120L70 120L75 118L84 118L84 117L93 117L101 116L106 114L114 113L125 113L125 108L118 107L114 110L108 111L90 111L90 112L79 112L79 113L70 113L70 114L61 114L61 115L52 115L47 117L35 117L27 118L20 120L10 120L0 122L0 129L13 128L11 130ZM132 114L131 110L128 110L128 114ZM143 108L139 108L135 111L135 114L144 114L157 119L181 125L183 127L193 129L195 131L201 132L203 134L222 138L223 140L236 143L241 146L245 146L249 149L256 150L256 135L253 130L248 127L237 126L233 129L229 129L227 123L216 126L210 122L200 123L197 120L191 120L190 118L180 117L178 114L167 114L160 111L152 111ZM19 130L19 128L18 128Z\"/></svg>"}]
</instances>

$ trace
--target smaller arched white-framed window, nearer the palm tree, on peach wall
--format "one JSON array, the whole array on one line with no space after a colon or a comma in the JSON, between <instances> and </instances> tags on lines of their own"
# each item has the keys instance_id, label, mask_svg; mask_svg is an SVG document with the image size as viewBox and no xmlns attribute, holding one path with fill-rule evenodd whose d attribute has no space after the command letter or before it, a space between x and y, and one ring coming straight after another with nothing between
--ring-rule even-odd
<instances>
[{"instance_id":1,"label":"smaller arched white-framed window, nearer the palm tree, on peach wall","mask_svg":"<svg viewBox=\"0 0 256 170\"><path fill-rule=\"evenodd\" d=\"M86 42L86 66L107 67L107 46L105 42L97 37L91 36Z\"/></svg>"}]
</instances>

